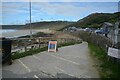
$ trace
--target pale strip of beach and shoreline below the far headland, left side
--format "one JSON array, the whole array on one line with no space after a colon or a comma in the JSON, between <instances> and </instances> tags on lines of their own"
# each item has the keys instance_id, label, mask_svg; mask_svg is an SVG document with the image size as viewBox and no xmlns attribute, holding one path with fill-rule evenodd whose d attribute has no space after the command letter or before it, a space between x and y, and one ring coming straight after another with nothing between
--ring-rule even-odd
<instances>
[{"instance_id":1,"label":"pale strip of beach and shoreline below the far headland, left side","mask_svg":"<svg viewBox=\"0 0 120 80\"><path fill-rule=\"evenodd\" d=\"M32 30L32 34L37 33L37 32L44 32L44 33L53 33L54 31L49 30L49 29L34 29ZM13 37L20 37L20 36L25 36L25 35L29 35L30 34L30 30L16 30L14 32L6 32L6 33L2 33L2 37L7 37L7 38L13 38Z\"/></svg>"}]
</instances>

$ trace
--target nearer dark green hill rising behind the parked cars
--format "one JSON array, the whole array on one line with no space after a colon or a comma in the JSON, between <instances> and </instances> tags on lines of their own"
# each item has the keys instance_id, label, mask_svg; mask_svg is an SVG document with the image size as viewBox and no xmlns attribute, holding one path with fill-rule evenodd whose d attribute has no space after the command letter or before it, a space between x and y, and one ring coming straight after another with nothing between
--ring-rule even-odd
<instances>
[{"instance_id":1,"label":"nearer dark green hill rising behind the parked cars","mask_svg":"<svg viewBox=\"0 0 120 80\"><path fill-rule=\"evenodd\" d=\"M104 22L110 22L114 24L118 20L120 20L120 12L94 13L66 27L76 26L76 27L82 27L82 28L84 27L99 28Z\"/></svg>"}]
</instances>

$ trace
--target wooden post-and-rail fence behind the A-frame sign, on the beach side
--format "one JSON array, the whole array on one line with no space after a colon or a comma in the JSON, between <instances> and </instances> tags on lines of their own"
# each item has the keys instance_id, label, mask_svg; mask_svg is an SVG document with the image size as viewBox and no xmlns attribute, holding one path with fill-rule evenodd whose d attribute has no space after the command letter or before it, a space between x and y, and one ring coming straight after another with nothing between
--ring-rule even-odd
<instances>
[{"instance_id":1,"label":"wooden post-and-rail fence behind the A-frame sign, on the beach side","mask_svg":"<svg viewBox=\"0 0 120 80\"><path fill-rule=\"evenodd\" d=\"M56 37L41 37L41 38L17 38L12 40L12 52L25 52L30 49L42 48L48 45L50 40L56 40L58 46L68 42L81 42L80 39L74 38L56 38Z\"/></svg>"}]
</instances>

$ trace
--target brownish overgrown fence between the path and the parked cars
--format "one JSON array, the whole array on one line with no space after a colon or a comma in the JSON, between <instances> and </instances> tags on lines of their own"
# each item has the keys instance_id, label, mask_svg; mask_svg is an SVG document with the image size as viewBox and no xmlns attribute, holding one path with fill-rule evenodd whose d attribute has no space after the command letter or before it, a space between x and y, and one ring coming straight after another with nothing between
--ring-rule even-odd
<instances>
[{"instance_id":1,"label":"brownish overgrown fence between the path and the parked cars","mask_svg":"<svg viewBox=\"0 0 120 80\"><path fill-rule=\"evenodd\" d=\"M79 31L79 32L74 32L74 36L78 36L84 41L87 41L89 43L93 43L102 49L104 49L106 52L108 50L108 47L114 47L112 40L105 36L101 36L95 33L90 33L90 32L85 32L85 31Z\"/></svg>"}]
</instances>

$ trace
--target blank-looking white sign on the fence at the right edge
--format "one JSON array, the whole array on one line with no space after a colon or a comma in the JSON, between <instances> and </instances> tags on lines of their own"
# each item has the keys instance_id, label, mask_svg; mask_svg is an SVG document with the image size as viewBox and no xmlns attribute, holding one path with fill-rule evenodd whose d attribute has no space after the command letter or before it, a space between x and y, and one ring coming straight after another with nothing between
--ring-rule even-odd
<instances>
[{"instance_id":1,"label":"blank-looking white sign on the fence at the right edge","mask_svg":"<svg viewBox=\"0 0 120 80\"><path fill-rule=\"evenodd\" d=\"M108 56L120 59L120 50L109 47L109 49L108 49Z\"/></svg>"}]
</instances>

